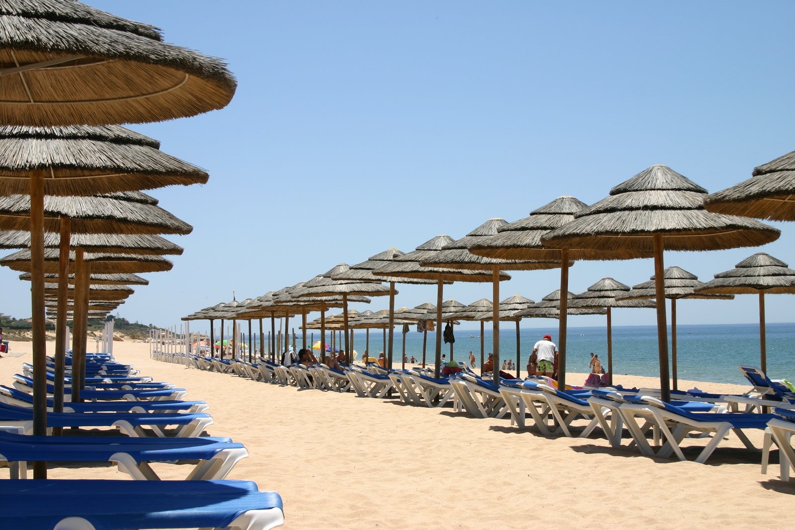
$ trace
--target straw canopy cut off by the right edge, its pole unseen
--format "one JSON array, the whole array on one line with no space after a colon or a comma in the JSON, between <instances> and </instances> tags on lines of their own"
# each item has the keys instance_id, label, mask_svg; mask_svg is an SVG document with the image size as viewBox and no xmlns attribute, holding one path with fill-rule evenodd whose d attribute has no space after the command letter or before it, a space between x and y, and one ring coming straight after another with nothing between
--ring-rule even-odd
<instances>
[{"instance_id":1,"label":"straw canopy cut off by the right edge, its pole unseen","mask_svg":"<svg viewBox=\"0 0 795 530\"><path fill-rule=\"evenodd\" d=\"M795 221L795 151L757 166L750 179L708 195L704 207L717 214Z\"/></svg>"}]
</instances>

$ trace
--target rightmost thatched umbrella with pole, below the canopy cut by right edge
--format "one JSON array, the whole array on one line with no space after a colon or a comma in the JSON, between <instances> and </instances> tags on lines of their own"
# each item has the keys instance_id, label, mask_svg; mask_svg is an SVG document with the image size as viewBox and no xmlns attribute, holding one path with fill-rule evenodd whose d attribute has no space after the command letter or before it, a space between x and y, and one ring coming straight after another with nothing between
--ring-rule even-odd
<instances>
[{"instance_id":1,"label":"rightmost thatched umbrella with pole, below the canopy cut by right edge","mask_svg":"<svg viewBox=\"0 0 795 530\"><path fill-rule=\"evenodd\" d=\"M759 357L762 372L767 371L765 333L765 295L795 294L795 270L784 261L763 252L740 261L735 269L715 274L696 288L700 294L758 294L759 295Z\"/></svg>"}]
</instances>

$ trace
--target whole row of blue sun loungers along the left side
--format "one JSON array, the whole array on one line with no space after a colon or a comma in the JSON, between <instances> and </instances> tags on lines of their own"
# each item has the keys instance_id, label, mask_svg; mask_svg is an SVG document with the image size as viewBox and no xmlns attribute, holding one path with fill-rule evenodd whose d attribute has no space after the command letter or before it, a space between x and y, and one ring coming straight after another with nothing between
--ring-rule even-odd
<instances>
[{"instance_id":1,"label":"whole row of blue sun loungers along the left side","mask_svg":"<svg viewBox=\"0 0 795 530\"><path fill-rule=\"evenodd\" d=\"M12 386L0 385L0 527L33 530L229 528L259 530L284 523L278 493L225 477L248 451L229 438L203 435L212 418L204 401L142 377L106 354L87 355L84 402L72 403L71 358L64 412L52 412L54 373L48 360L48 433L53 427L118 429L118 435L25 434L33 425L33 366ZM64 431L64 434L68 431ZM103 432L102 434L107 434ZM112 462L134 480L17 480L29 462ZM152 462L190 468L182 481L163 481Z\"/></svg>"}]
</instances>

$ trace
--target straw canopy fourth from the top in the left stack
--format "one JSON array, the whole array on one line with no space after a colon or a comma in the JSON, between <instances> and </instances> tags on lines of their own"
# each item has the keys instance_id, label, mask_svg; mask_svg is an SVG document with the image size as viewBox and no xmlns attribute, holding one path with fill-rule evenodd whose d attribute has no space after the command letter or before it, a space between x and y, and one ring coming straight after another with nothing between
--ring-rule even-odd
<instances>
[{"instance_id":1,"label":"straw canopy fourth from the top in the left stack","mask_svg":"<svg viewBox=\"0 0 795 530\"><path fill-rule=\"evenodd\" d=\"M153 234L72 234L69 246L87 252L129 252L180 255L181 246ZM30 232L0 230L0 249L29 249ZM60 248L60 234L45 233L45 249Z\"/></svg>"}]
</instances>

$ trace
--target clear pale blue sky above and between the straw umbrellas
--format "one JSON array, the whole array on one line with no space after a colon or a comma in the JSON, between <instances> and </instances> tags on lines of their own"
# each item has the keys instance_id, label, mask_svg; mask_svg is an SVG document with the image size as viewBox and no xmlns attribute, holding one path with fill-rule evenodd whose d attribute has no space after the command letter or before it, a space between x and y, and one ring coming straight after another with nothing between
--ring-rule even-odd
<instances>
[{"instance_id":1,"label":"clear pale blue sky above and between the straw umbrellas","mask_svg":"<svg viewBox=\"0 0 795 530\"><path fill-rule=\"evenodd\" d=\"M595 203L653 164L719 191L795 149L795 2L87 3L222 57L238 79L223 110L130 126L210 173L204 186L150 191L194 230L169 236L185 249L173 270L144 275L149 286L114 312L130 321L178 325L233 293L261 296L437 234L461 238L560 195ZM706 281L766 252L795 268L795 226L770 224L781 238L766 246L667 252L665 265ZM540 300L560 283L557 270L511 274L501 298ZM652 274L649 259L583 261L569 289ZM0 269L0 311L29 317L17 275ZM397 288L398 308L435 303L432 285ZM463 304L483 297L491 284L444 290ZM792 296L766 302L768 322L792 321ZM753 323L758 299L683 300L677 315ZM613 316L655 322L654 311ZM545 324L556 327L523 323Z\"/></svg>"}]
</instances>

